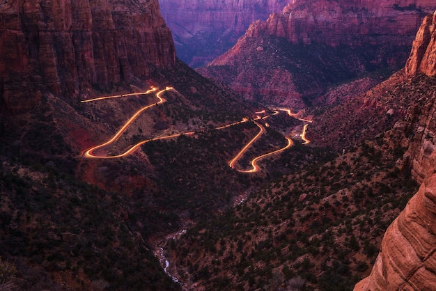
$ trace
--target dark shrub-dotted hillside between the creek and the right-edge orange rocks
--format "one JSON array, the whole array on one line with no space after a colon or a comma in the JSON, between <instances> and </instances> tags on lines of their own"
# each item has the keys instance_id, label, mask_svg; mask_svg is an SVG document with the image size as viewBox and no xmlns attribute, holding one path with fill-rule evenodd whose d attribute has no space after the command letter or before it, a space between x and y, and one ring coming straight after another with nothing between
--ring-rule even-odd
<instances>
[{"instance_id":1,"label":"dark shrub-dotted hillside between the creek and the right-edge orange rocks","mask_svg":"<svg viewBox=\"0 0 436 291\"><path fill-rule=\"evenodd\" d=\"M394 80L395 86L393 80L379 85L388 94L372 97L401 100L399 88L407 88L409 105L434 97L434 77ZM169 239L172 276L199 290L351 290L368 274L384 232L417 189L405 155L414 114L386 132L389 126L377 123L366 123L376 135L369 141L342 144L343 154L329 162L283 175L233 210ZM353 134L359 139L357 129Z\"/></svg>"}]
</instances>

